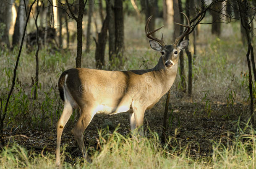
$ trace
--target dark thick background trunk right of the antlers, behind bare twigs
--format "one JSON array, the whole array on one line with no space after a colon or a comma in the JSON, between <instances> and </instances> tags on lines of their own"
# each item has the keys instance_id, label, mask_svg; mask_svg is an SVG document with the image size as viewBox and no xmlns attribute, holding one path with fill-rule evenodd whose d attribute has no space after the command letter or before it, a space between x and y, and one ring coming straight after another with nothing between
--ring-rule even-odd
<instances>
[{"instance_id":1,"label":"dark thick background trunk right of the antlers, behind bare twigs","mask_svg":"<svg viewBox=\"0 0 256 169\"><path fill-rule=\"evenodd\" d=\"M216 3L211 10L211 14L212 14L212 34L215 35L220 35L221 33L221 23L219 23L221 21L220 19L220 13L215 12L215 11L219 11L222 8L222 3Z\"/></svg>"}]
</instances>

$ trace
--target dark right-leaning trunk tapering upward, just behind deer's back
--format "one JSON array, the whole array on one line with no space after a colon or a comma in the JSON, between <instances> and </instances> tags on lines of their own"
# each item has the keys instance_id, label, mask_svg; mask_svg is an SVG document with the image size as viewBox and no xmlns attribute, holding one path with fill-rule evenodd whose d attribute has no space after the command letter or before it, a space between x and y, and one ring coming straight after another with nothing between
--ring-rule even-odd
<instances>
[{"instance_id":1,"label":"dark right-leaning trunk tapering upward, just behind deer's back","mask_svg":"<svg viewBox=\"0 0 256 169\"><path fill-rule=\"evenodd\" d=\"M105 54L105 46L107 42L107 17L105 18L101 32L98 33L97 40L94 38L96 43L96 50L95 50L95 61L96 61L96 68L102 69L102 66L105 64L104 54Z\"/></svg>"}]
</instances>

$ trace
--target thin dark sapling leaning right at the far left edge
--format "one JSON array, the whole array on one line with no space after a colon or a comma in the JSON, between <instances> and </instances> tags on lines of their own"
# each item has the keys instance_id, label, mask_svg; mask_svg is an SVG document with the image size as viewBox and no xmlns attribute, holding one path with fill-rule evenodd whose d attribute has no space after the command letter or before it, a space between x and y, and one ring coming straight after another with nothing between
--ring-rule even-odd
<instances>
[{"instance_id":1,"label":"thin dark sapling leaning right at the far left edge","mask_svg":"<svg viewBox=\"0 0 256 169\"><path fill-rule=\"evenodd\" d=\"M15 86L16 71L17 71L18 62L19 62L19 59L20 59L20 56L21 56L21 50L22 50L22 46L23 46L23 42L24 42L24 38L25 38L26 27L27 27L27 24L28 24L28 21L29 21L29 14L30 14L30 12L31 12L32 6L34 5L34 3L35 3L36 1L37 1L37 0L34 0L33 3L30 5L29 12L28 12L28 16L27 16L27 19L26 19L26 22L25 22L25 25L24 25L23 36L22 36L22 38L21 38L21 45L20 45L20 49L19 49L19 52L18 52L18 56L17 56L15 68L14 68L14 70L13 70L12 86L11 86L11 88L10 88L10 91L9 91L9 94L8 94L8 98L7 98L6 103L5 103L5 109L4 109L4 111L2 111L2 106L1 106L1 109L0 109L0 134L1 134L0 140L1 140L2 146L4 146L3 122L4 122L5 116L6 116L6 114L7 114L7 108L8 108L8 104L9 104L9 101L10 101L10 96L11 96L11 94L13 93L13 88L14 88L14 86Z\"/></svg>"}]
</instances>

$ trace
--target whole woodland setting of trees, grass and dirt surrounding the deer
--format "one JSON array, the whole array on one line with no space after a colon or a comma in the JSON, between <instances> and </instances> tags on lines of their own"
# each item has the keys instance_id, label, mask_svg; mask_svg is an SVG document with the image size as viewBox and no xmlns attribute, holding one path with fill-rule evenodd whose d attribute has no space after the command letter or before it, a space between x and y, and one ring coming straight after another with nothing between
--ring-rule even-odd
<instances>
[{"instance_id":1,"label":"whole woodland setting of trees, grass and dirt surrounding the deer","mask_svg":"<svg viewBox=\"0 0 256 169\"><path fill-rule=\"evenodd\" d=\"M128 114L98 114L84 133L87 164L70 133L75 111L62 166L255 168L255 0L1 0L1 167L55 168L60 74L154 67L160 54L149 47L146 19L153 15L150 30L165 25L155 36L170 44L183 32L174 23L186 23L180 12L190 44L169 104L165 95L146 111L145 137L131 138Z\"/></svg>"}]
</instances>

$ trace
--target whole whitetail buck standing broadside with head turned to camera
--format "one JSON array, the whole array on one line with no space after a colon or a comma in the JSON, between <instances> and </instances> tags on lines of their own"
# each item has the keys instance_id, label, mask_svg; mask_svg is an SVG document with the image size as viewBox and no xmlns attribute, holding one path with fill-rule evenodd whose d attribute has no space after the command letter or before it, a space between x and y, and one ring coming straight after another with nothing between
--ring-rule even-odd
<instances>
[{"instance_id":1,"label":"whole whitetail buck standing broadside with head turned to camera","mask_svg":"<svg viewBox=\"0 0 256 169\"><path fill-rule=\"evenodd\" d=\"M183 15L185 15L183 13ZM131 130L143 125L146 109L152 108L167 93L175 80L178 70L180 50L188 46L189 40L183 40L190 30L188 17L185 15L187 29L172 45L165 45L161 39L152 36L156 30L149 31L149 17L146 22L146 36L152 49L161 53L157 66L148 70L103 71L88 68L73 68L64 71L59 79L60 97L64 101L63 113L57 122L56 164L60 164L60 139L63 128L72 114L72 108L81 108L72 133L86 159L84 130L97 113L130 114ZM140 128L141 134L143 129Z\"/></svg>"}]
</instances>

